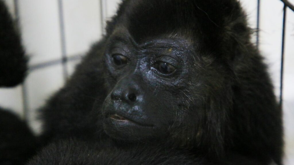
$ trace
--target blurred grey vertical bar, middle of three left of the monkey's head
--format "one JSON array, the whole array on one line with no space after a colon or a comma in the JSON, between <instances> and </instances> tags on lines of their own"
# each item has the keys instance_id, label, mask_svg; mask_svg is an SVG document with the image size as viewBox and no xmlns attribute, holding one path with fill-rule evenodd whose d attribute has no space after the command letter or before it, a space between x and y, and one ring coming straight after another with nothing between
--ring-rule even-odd
<instances>
[{"instance_id":1,"label":"blurred grey vertical bar, middle of three left of the monkey's head","mask_svg":"<svg viewBox=\"0 0 294 165\"><path fill-rule=\"evenodd\" d=\"M64 31L64 16L63 16L63 5L62 0L58 1L58 12L59 12L59 28L60 28L60 40L61 40L61 63L63 69L64 80L68 77L68 71L66 67L67 56L66 56L66 40L65 40L65 31Z\"/></svg>"}]
</instances>

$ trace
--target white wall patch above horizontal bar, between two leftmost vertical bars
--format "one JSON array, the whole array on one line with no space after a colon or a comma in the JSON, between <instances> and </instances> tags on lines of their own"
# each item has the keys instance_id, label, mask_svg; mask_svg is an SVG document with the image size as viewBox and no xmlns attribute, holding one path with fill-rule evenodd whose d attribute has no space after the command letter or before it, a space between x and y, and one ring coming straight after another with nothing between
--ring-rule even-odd
<instances>
[{"instance_id":1,"label":"white wall patch above horizontal bar, between two leftmost vertical bars","mask_svg":"<svg viewBox=\"0 0 294 165\"><path fill-rule=\"evenodd\" d=\"M61 57L57 1L19 0L20 28L30 65Z\"/></svg>"}]
</instances>

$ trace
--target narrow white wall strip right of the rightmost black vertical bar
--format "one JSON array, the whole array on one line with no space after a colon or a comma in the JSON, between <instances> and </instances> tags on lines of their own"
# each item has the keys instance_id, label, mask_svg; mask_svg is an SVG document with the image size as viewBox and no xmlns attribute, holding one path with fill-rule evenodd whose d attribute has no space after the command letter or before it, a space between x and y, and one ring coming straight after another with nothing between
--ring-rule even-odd
<instances>
[{"instance_id":1,"label":"narrow white wall strip right of the rightmost black vertical bar","mask_svg":"<svg viewBox=\"0 0 294 165\"><path fill-rule=\"evenodd\" d=\"M292 0L294 4L294 0ZM285 125L285 164L294 164L294 12L287 9L285 33L283 110Z\"/></svg>"}]
</instances>

